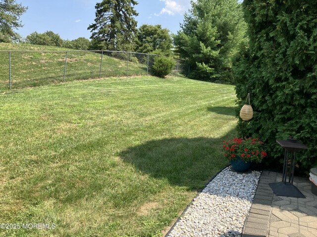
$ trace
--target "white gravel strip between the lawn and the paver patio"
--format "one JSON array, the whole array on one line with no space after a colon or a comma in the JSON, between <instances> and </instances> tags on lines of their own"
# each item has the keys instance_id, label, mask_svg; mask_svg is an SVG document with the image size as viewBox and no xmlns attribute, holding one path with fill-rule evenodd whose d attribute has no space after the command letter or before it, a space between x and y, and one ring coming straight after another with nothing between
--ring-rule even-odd
<instances>
[{"instance_id":1,"label":"white gravel strip between the lawn and the paver patio","mask_svg":"<svg viewBox=\"0 0 317 237\"><path fill-rule=\"evenodd\" d=\"M194 198L168 237L240 237L260 175L226 167Z\"/></svg>"}]
</instances>

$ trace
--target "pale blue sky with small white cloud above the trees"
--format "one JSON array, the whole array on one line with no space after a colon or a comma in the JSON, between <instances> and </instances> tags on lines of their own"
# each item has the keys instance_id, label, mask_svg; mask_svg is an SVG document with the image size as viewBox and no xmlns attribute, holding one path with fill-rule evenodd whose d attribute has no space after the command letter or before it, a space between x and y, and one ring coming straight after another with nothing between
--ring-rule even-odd
<instances>
[{"instance_id":1,"label":"pale blue sky with small white cloud above the trees","mask_svg":"<svg viewBox=\"0 0 317 237\"><path fill-rule=\"evenodd\" d=\"M190 0L137 0L138 27L142 24L162 25L177 33L183 23ZM16 0L28 10L21 16L24 25L17 31L22 37L32 32L53 31L64 40L90 38L87 27L94 23L95 5L101 0Z\"/></svg>"}]
</instances>

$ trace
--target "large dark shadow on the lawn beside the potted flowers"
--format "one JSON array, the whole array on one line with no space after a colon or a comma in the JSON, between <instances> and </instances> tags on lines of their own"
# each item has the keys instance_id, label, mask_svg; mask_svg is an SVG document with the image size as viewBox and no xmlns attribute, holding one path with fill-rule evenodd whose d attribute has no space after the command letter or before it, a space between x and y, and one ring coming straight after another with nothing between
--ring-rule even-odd
<instances>
[{"instance_id":1,"label":"large dark shadow on the lawn beside the potted flowers","mask_svg":"<svg viewBox=\"0 0 317 237\"><path fill-rule=\"evenodd\" d=\"M170 138L153 140L119 154L125 162L154 178L188 190L204 188L228 161L222 154L226 138Z\"/></svg>"}]
</instances>

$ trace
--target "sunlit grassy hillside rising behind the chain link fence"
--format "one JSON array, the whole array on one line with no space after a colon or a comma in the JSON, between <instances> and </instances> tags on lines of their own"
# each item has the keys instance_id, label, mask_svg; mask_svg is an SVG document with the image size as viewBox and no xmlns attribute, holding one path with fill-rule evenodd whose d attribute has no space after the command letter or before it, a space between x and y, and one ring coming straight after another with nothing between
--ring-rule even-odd
<instances>
[{"instance_id":1,"label":"sunlit grassy hillside rising behind the chain link fence","mask_svg":"<svg viewBox=\"0 0 317 237\"><path fill-rule=\"evenodd\" d=\"M73 50L54 46L0 43L6 50ZM11 52L11 87L23 88L61 82L64 79L65 52ZM147 75L147 56L105 52L68 52L65 81L110 76ZM127 67L128 66L128 67ZM128 69L128 73L127 73ZM9 57L0 52L0 90L9 86Z\"/></svg>"}]
</instances>

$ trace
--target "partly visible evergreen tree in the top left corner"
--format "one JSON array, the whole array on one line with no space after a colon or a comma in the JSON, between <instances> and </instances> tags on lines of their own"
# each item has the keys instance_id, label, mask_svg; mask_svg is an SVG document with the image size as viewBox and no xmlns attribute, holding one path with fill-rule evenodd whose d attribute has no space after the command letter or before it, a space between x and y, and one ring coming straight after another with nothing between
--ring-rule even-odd
<instances>
[{"instance_id":1,"label":"partly visible evergreen tree in the top left corner","mask_svg":"<svg viewBox=\"0 0 317 237\"><path fill-rule=\"evenodd\" d=\"M0 0L0 42L17 40L19 35L15 29L22 27L20 16L26 12L27 7L15 0Z\"/></svg>"}]
</instances>

